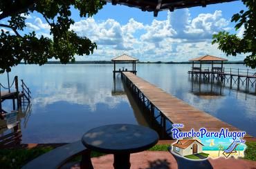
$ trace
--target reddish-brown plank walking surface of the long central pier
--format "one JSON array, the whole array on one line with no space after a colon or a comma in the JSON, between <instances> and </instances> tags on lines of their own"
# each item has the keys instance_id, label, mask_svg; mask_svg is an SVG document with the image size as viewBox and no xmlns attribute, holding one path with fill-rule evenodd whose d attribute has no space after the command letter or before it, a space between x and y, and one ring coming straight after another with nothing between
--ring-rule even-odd
<instances>
[{"instance_id":1,"label":"reddish-brown plank walking surface of the long central pier","mask_svg":"<svg viewBox=\"0 0 256 169\"><path fill-rule=\"evenodd\" d=\"M183 123L181 131L190 131L192 128L198 131L206 128L208 131L219 131L221 128L228 128L230 131L239 131L238 128L198 110L181 99L177 99L144 79L137 77L131 72L122 72L134 85L151 101L163 115L172 123ZM232 112L230 112L232 113ZM246 135L246 138L251 137Z\"/></svg>"}]
</instances>

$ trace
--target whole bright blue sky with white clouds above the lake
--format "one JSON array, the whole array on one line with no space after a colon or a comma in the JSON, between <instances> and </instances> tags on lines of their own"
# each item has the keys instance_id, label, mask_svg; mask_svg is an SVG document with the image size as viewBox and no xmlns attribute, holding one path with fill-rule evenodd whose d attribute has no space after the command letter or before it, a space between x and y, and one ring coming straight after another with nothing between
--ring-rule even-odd
<instances>
[{"instance_id":1,"label":"whole bright blue sky with white clouds above the lake","mask_svg":"<svg viewBox=\"0 0 256 169\"><path fill-rule=\"evenodd\" d=\"M212 46L212 34L221 30L235 33L235 24L230 22L232 14L245 9L241 1L235 1L159 12L154 17L152 12L109 3L90 18L80 18L79 12L72 9L75 24L71 29L98 44L93 55L76 58L108 61L122 53L140 61L188 61L204 54L226 57L216 45ZM30 14L26 21L29 31L49 36L49 26L40 14ZM237 34L242 36L243 29ZM228 59L244 60L244 55Z\"/></svg>"}]
</instances>

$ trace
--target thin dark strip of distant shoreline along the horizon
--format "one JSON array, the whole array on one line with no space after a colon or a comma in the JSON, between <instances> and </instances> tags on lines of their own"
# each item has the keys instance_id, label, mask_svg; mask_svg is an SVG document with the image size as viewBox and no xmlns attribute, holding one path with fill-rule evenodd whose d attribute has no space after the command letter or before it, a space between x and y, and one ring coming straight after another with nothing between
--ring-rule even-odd
<instances>
[{"instance_id":1,"label":"thin dark strip of distant shoreline along the horizon","mask_svg":"<svg viewBox=\"0 0 256 169\"><path fill-rule=\"evenodd\" d=\"M129 62L118 62L120 64L125 64ZM181 61L181 62L174 62L174 61L138 61L139 64L192 64L191 61ZM25 63L21 63L25 64ZM62 64L60 61L48 61L45 64ZM113 64L112 61L75 61L67 64ZM211 62L208 62L208 64L211 64ZM244 61L226 61L223 62L223 64L244 64Z\"/></svg>"}]
</instances>

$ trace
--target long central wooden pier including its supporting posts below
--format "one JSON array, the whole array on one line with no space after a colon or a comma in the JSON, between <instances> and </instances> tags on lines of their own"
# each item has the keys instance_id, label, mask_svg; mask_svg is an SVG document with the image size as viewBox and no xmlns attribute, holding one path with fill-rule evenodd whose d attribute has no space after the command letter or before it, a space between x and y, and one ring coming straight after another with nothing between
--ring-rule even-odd
<instances>
[{"instance_id":1,"label":"long central wooden pier including its supporting posts below","mask_svg":"<svg viewBox=\"0 0 256 169\"><path fill-rule=\"evenodd\" d=\"M196 131L200 128L206 128L208 131L219 131L221 128L239 131L234 126L190 106L131 72L122 72L122 79L134 97L147 108L150 116L158 119L163 128L163 135L170 135L172 123L183 123L184 127L180 128L181 131L190 131L192 128ZM247 137L251 136L246 135L245 138Z\"/></svg>"}]
</instances>

